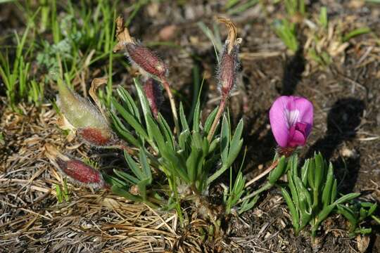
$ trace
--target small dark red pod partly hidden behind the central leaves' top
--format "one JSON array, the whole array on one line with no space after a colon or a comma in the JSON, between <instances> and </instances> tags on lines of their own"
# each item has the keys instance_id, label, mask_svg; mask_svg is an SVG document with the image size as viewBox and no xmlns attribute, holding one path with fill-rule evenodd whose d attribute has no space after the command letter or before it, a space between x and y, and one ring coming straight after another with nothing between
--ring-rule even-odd
<instances>
[{"instance_id":1,"label":"small dark red pod partly hidden behind the central leaves' top","mask_svg":"<svg viewBox=\"0 0 380 253\"><path fill-rule=\"evenodd\" d=\"M163 93L161 86L153 78L148 78L144 83L145 96L153 112L153 116L157 118L160 106L163 103Z\"/></svg>"}]
</instances>

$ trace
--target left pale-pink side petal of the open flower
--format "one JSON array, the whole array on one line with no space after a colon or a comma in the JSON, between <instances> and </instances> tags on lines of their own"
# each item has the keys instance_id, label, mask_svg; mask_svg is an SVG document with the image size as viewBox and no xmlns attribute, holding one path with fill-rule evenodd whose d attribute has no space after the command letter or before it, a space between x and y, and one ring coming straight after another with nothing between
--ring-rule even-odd
<instances>
[{"instance_id":1,"label":"left pale-pink side petal of the open flower","mask_svg":"<svg viewBox=\"0 0 380 253\"><path fill-rule=\"evenodd\" d=\"M270 126L272 133L277 143L283 148L288 144L289 138L289 123L286 117L286 106L288 102L288 96L281 96L274 101L272 108L270 108Z\"/></svg>"}]
</instances>

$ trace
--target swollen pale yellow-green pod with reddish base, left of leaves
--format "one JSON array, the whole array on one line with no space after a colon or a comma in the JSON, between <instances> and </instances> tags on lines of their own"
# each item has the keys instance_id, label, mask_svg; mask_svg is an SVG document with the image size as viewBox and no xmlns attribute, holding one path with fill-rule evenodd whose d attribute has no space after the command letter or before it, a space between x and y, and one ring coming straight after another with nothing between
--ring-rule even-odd
<instances>
[{"instance_id":1,"label":"swollen pale yellow-green pod with reddish base, left of leaves","mask_svg":"<svg viewBox=\"0 0 380 253\"><path fill-rule=\"evenodd\" d=\"M115 143L115 134L106 118L89 102L58 80L58 108L77 135L91 145L105 146Z\"/></svg>"}]
</instances>

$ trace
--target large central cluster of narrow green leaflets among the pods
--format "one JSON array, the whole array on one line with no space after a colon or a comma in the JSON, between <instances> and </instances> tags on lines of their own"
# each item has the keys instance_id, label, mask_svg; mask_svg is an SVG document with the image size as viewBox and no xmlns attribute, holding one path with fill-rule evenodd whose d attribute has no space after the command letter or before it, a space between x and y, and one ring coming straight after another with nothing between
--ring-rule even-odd
<instances>
[{"instance_id":1,"label":"large central cluster of narrow green leaflets among the pods","mask_svg":"<svg viewBox=\"0 0 380 253\"><path fill-rule=\"evenodd\" d=\"M132 174L115 169L115 175L106 178L113 185L111 189L114 193L130 200L145 202L152 207L175 208L180 214L181 201L191 200L194 198L193 193L198 197L202 196L210 183L232 166L243 145L243 121L239 122L232 133L229 120L224 115L220 135L215 135L208 141L208 133L218 108L202 124L198 100L191 120L186 119L184 108L180 104L180 131L173 133L160 113L157 119L153 117L144 90L137 79L134 84L140 105L120 87L120 101L111 98L110 115L118 134L139 149L139 161L125 153ZM217 166L219 161L220 167ZM165 174L167 186L159 185L153 180L152 170ZM244 184L239 183L243 177L238 177L239 188L234 188L235 196L241 196L244 192L241 187ZM131 187L137 187L137 193L132 194ZM236 202L229 202L229 207Z\"/></svg>"}]
</instances>

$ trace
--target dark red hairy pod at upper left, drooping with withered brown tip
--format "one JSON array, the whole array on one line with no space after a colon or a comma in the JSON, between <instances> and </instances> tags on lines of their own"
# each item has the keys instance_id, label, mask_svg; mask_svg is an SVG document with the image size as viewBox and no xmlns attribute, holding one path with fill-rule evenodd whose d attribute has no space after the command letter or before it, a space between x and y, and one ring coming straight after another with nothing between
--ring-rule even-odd
<instances>
[{"instance_id":1,"label":"dark red hairy pod at upper left, drooping with withered brown tip","mask_svg":"<svg viewBox=\"0 0 380 253\"><path fill-rule=\"evenodd\" d=\"M163 60L158 58L149 48L137 43L125 43L129 60L141 70L156 77L164 77L167 67Z\"/></svg>"}]
</instances>

